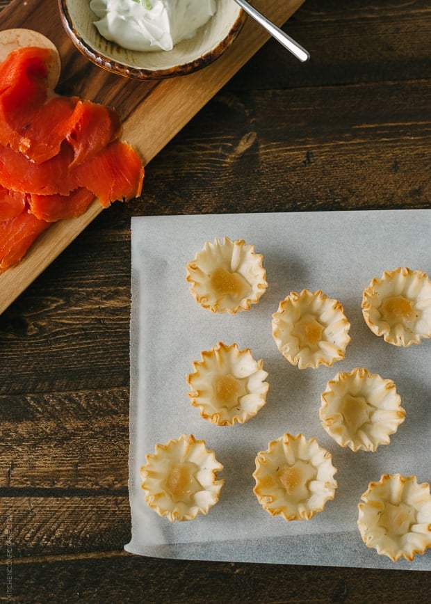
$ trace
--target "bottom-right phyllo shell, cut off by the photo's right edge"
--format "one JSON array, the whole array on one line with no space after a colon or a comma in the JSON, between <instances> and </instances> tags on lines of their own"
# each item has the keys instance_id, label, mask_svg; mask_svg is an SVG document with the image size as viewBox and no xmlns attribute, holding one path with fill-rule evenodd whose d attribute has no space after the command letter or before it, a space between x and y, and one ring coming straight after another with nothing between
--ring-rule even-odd
<instances>
[{"instance_id":1,"label":"bottom-right phyllo shell, cut off by the photo's right edge","mask_svg":"<svg viewBox=\"0 0 431 604\"><path fill-rule=\"evenodd\" d=\"M382 475L370 482L358 508L362 540L378 554L412 561L431 547L430 485L418 484L416 476Z\"/></svg>"}]
</instances>

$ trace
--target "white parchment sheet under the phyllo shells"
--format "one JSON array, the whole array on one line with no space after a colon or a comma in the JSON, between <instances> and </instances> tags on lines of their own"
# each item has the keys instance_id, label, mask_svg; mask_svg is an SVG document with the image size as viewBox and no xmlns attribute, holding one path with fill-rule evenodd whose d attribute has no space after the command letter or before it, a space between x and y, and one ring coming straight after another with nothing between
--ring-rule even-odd
<instances>
[{"instance_id":1,"label":"white parchment sheet under the phyllo shells","mask_svg":"<svg viewBox=\"0 0 431 604\"><path fill-rule=\"evenodd\" d=\"M364 546L357 504L383 473L430 482L431 340L409 348L371 333L361 314L362 291L396 267L431 274L431 210L222 214L132 218L132 310L129 493L131 553L156 557L431 569L431 550L393 563ZM186 264L206 240L245 239L263 255L269 287L257 305L213 315L195 302ZM332 367L298 369L279 353L271 317L291 291L323 289L343 304L351 323L345 359ZM186 376L201 351L236 342L263 359L268 402L255 418L218 427L190 405ZM389 445L377 452L344 449L320 425L320 393L339 371L366 367L393 379L407 411ZM332 453L339 487L325 510L286 522L266 512L252 492L254 459L284 432L317 438ZM181 434L206 440L223 464L220 501L206 516L170 523L145 504L139 468L156 443Z\"/></svg>"}]
</instances>

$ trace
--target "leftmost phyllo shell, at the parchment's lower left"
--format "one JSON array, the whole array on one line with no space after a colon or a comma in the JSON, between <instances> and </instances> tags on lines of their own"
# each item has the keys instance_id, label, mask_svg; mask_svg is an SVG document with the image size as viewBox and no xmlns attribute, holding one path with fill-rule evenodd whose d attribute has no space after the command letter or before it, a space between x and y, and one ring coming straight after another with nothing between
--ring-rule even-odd
<instances>
[{"instance_id":1,"label":"leftmost phyllo shell, at the parchment's lower left","mask_svg":"<svg viewBox=\"0 0 431 604\"><path fill-rule=\"evenodd\" d=\"M165 445L156 445L140 468L145 502L159 516L174 520L193 520L207 514L218 502L223 480L216 472L223 469L204 440L183 434Z\"/></svg>"}]
</instances>

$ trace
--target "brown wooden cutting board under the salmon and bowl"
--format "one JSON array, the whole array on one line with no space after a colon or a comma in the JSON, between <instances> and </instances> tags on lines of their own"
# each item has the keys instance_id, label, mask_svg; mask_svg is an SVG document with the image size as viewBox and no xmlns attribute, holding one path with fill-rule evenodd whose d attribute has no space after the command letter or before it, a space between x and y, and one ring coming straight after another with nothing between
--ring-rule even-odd
<instances>
[{"instance_id":1,"label":"brown wooden cutting board under the salmon and bowl","mask_svg":"<svg viewBox=\"0 0 431 604\"><path fill-rule=\"evenodd\" d=\"M303 1L255 0L252 3L281 26ZM0 30L17 27L43 33L58 48L62 63L58 92L79 95L117 109L124 125L123 138L138 150L145 166L269 37L248 17L234 44L208 67L184 77L143 82L110 74L81 56L63 29L56 0L13 0L0 13ZM83 216L54 223L17 267L0 274L0 313L24 292L101 209L96 200Z\"/></svg>"}]
</instances>

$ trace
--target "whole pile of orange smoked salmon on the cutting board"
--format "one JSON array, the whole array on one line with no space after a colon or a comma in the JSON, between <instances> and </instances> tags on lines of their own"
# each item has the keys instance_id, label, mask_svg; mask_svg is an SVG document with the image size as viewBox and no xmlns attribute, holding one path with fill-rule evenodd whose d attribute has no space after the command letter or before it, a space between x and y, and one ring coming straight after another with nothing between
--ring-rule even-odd
<instances>
[{"instance_id":1,"label":"whole pile of orange smoked salmon on the cutting board","mask_svg":"<svg viewBox=\"0 0 431 604\"><path fill-rule=\"evenodd\" d=\"M120 140L120 116L49 88L55 62L51 49L27 47L0 64L0 272L95 198L108 207L142 191L143 161Z\"/></svg>"}]
</instances>

